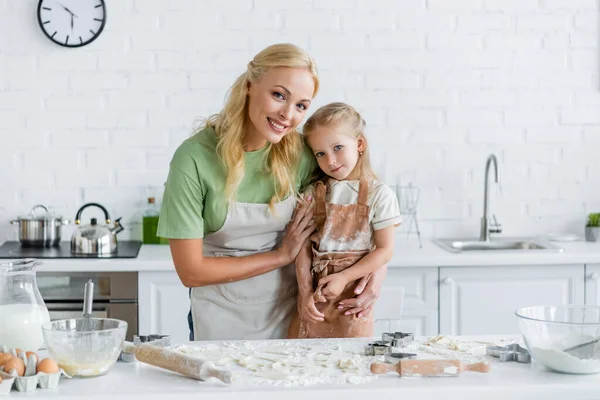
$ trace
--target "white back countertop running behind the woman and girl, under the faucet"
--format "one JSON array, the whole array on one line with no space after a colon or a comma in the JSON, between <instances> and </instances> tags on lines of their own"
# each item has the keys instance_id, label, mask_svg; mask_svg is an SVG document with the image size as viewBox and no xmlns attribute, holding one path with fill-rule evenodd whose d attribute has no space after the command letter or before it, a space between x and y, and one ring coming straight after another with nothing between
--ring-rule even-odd
<instances>
[{"instance_id":1,"label":"white back countertop running behind the woman and girl, under the faucet","mask_svg":"<svg viewBox=\"0 0 600 400\"><path fill-rule=\"evenodd\" d=\"M391 268L402 267L468 267L495 265L567 265L600 264L600 243L554 242L563 252L530 251L472 251L450 253L429 240L423 248L414 242L398 239ZM133 259L44 259L39 271L174 271L167 245L142 245Z\"/></svg>"}]
</instances>

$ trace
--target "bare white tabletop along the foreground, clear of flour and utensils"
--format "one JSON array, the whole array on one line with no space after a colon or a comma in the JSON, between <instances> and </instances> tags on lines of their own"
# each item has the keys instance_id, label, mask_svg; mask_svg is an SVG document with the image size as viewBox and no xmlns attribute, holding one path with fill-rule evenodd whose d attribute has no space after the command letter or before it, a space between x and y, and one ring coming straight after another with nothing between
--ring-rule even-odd
<instances>
[{"instance_id":1,"label":"bare white tabletop along the foreground, clear of flour and utensils","mask_svg":"<svg viewBox=\"0 0 600 400\"><path fill-rule=\"evenodd\" d=\"M456 339L462 340L461 337ZM498 336L469 337L468 340L497 341ZM190 343L197 345L199 343ZM215 342L216 343L216 342ZM259 342L256 342L259 343ZM264 343L264 342L262 342ZM118 362L105 376L90 379L62 378L55 390L33 393L12 391L13 397L61 399L248 399L248 400L379 400L391 398L444 400L467 399L590 399L600 396L600 374L565 375L533 364L501 363L491 360L488 374L464 372L459 377L399 378L378 376L361 384L323 384L299 387L225 385L199 382L149 365Z\"/></svg>"}]
</instances>

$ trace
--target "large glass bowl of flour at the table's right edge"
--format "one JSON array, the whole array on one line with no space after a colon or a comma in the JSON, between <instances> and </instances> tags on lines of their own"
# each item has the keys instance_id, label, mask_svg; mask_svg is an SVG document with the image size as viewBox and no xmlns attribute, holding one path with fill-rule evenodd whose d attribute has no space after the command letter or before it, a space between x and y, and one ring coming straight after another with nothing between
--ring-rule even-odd
<instances>
[{"instance_id":1,"label":"large glass bowl of flour at the table's right edge","mask_svg":"<svg viewBox=\"0 0 600 400\"><path fill-rule=\"evenodd\" d=\"M600 307L532 306L515 314L535 362L568 374L600 372Z\"/></svg>"}]
</instances>

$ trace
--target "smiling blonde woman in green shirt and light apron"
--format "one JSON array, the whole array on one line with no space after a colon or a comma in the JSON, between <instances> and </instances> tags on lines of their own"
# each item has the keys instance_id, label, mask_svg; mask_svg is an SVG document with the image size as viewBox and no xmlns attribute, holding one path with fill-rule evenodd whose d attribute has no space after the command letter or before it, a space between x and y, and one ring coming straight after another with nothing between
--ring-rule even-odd
<instances>
[{"instance_id":1,"label":"smiling blonde woman in green shirt and light apron","mask_svg":"<svg viewBox=\"0 0 600 400\"><path fill-rule=\"evenodd\" d=\"M192 288L190 340L285 337L296 306L293 261L314 230L312 210L294 212L316 166L295 128L318 88L306 52L270 46L223 110L175 152L158 235L170 239L177 274ZM382 279L365 280L358 292L370 290L340 307L366 311Z\"/></svg>"}]
</instances>

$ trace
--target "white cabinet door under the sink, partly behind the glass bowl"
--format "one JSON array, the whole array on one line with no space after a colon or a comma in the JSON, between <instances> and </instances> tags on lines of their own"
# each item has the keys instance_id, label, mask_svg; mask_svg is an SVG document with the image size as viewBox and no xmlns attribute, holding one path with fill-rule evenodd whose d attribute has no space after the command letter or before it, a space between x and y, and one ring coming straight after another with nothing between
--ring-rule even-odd
<instances>
[{"instance_id":1,"label":"white cabinet door under the sink, partly behind the glass bowl","mask_svg":"<svg viewBox=\"0 0 600 400\"><path fill-rule=\"evenodd\" d=\"M518 334L514 312L582 304L584 265L440 268L440 333Z\"/></svg>"}]
</instances>

